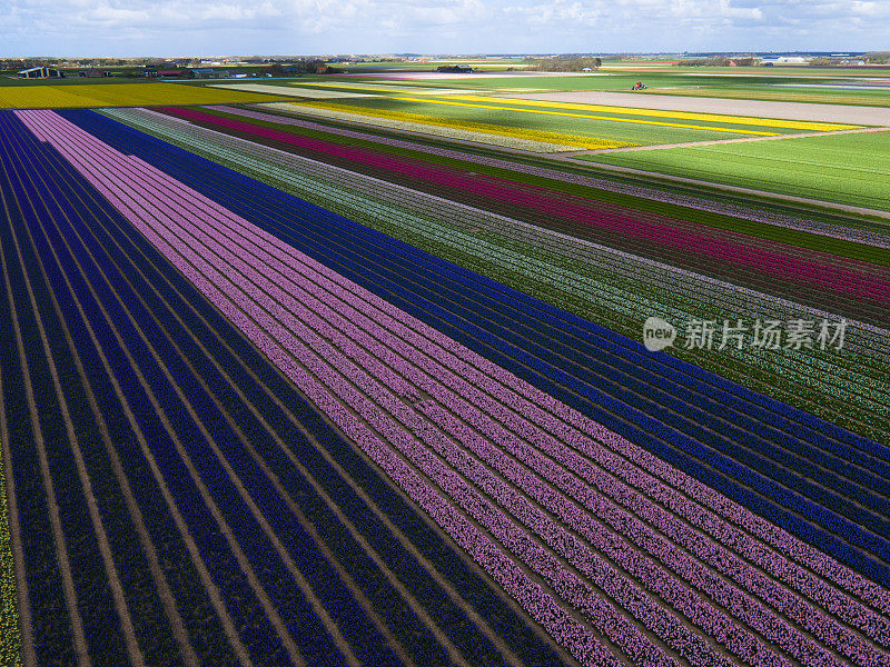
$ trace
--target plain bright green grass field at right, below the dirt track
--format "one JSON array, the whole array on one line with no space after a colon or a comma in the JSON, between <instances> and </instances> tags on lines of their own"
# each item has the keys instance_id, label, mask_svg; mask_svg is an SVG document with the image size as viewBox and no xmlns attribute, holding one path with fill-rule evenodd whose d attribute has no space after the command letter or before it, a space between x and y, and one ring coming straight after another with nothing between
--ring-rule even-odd
<instances>
[{"instance_id":1,"label":"plain bright green grass field at right, below the dirt track","mask_svg":"<svg viewBox=\"0 0 890 667\"><path fill-rule=\"evenodd\" d=\"M890 132L601 153L583 159L890 210Z\"/></svg>"}]
</instances>

